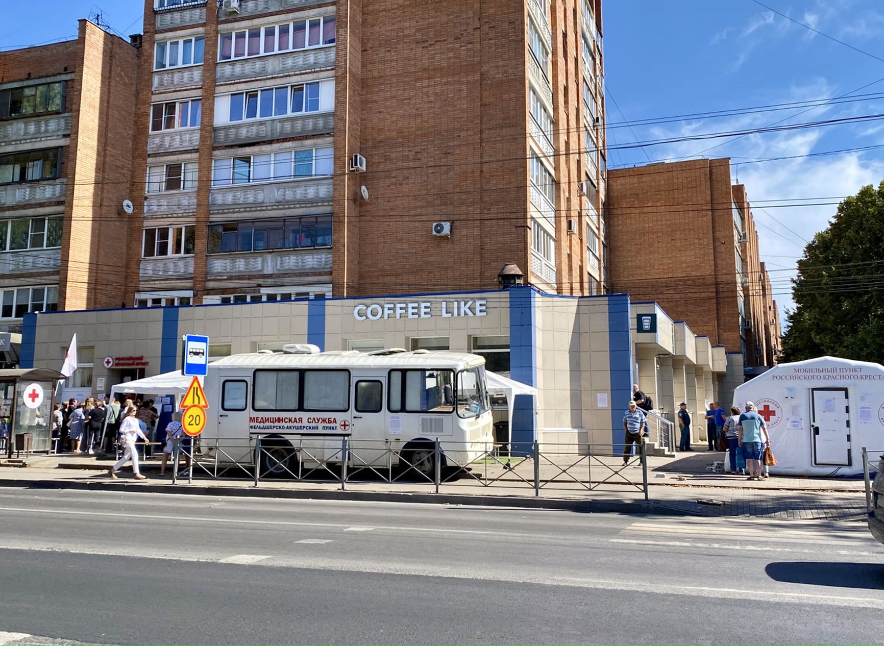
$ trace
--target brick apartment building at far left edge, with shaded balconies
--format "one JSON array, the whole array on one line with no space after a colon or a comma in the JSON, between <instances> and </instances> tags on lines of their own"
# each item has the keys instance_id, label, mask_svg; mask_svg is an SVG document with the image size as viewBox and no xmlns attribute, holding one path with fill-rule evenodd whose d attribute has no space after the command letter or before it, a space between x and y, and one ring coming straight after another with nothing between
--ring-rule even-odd
<instances>
[{"instance_id":1,"label":"brick apartment building at far left edge, with shaded balconies","mask_svg":"<svg viewBox=\"0 0 884 646\"><path fill-rule=\"evenodd\" d=\"M0 53L0 331L119 305L139 57L87 20L75 40Z\"/></svg>"}]
</instances>

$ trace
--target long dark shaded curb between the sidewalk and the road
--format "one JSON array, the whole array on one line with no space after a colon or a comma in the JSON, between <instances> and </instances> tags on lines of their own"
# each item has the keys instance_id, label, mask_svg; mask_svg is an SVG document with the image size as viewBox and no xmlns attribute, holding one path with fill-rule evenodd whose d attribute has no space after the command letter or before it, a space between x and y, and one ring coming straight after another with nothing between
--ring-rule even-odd
<instances>
[{"instance_id":1,"label":"long dark shaded curb between the sidewalk and the road","mask_svg":"<svg viewBox=\"0 0 884 646\"><path fill-rule=\"evenodd\" d=\"M270 488L204 487L200 485L135 484L118 482L71 482L65 480L3 480L0 487L87 491L138 491L141 493L232 496L237 498L288 498L301 500L347 500L354 502L421 503L424 505L470 505L554 509L580 513L629 513L667 516L705 516L655 501L575 500L569 498L512 498L448 493L396 493L392 491L288 490Z\"/></svg>"}]
</instances>

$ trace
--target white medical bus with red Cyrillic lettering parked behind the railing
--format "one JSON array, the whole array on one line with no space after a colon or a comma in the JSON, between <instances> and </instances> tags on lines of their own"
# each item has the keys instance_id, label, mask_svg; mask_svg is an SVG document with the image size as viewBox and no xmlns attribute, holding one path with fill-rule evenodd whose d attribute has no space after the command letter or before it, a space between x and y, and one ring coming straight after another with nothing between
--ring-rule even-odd
<instances>
[{"instance_id":1,"label":"white medical bus with red Cyrillic lettering parked behind the railing","mask_svg":"<svg viewBox=\"0 0 884 646\"><path fill-rule=\"evenodd\" d=\"M305 347L307 353L235 354L210 363L205 391L217 403L201 444L217 445L219 464L253 464L248 443L255 437L261 470L274 475L286 468L297 474L299 460L302 468L339 463L340 434L349 434L351 467L399 463L424 475L435 469L437 437L443 467L467 465L492 447L484 358L296 346Z\"/></svg>"}]
</instances>

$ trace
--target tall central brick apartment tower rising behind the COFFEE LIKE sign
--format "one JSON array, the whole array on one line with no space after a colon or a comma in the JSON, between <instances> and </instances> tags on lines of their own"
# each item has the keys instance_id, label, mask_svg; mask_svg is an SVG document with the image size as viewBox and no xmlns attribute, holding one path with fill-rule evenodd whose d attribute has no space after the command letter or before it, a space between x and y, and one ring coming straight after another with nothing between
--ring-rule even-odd
<instances>
[{"instance_id":1,"label":"tall central brick apartment tower rising behind the COFFEE LIKE sign","mask_svg":"<svg viewBox=\"0 0 884 646\"><path fill-rule=\"evenodd\" d=\"M600 293L599 4L146 0L127 304Z\"/></svg>"}]
</instances>

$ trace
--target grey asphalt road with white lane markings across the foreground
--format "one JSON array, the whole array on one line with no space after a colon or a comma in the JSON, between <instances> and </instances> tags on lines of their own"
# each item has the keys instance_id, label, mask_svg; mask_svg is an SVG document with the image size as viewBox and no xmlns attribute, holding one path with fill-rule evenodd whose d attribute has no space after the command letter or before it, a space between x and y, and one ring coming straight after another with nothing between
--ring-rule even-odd
<instances>
[{"instance_id":1,"label":"grey asphalt road with white lane markings across the foreground","mask_svg":"<svg viewBox=\"0 0 884 646\"><path fill-rule=\"evenodd\" d=\"M882 562L860 523L0 490L0 644L872 643Z\"/></svg>"}]
</instances>

